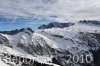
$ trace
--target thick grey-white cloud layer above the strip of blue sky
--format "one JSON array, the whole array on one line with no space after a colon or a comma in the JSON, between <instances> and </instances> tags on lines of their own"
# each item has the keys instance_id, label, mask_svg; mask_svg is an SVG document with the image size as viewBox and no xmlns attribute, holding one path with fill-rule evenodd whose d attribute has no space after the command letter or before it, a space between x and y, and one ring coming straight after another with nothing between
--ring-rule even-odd
<instances>
[{"instance_id":1,"label":"thick grey-white cloud layer above the strip of blue sky","mask_svg":"<svg viewBox=\"0 0 100 66\"><path fill-rule=\"evenodd\" d=\"M16 16L100 19L99 12L100 0L0 0L0 13Z\"/></svg>"}]
</instances>

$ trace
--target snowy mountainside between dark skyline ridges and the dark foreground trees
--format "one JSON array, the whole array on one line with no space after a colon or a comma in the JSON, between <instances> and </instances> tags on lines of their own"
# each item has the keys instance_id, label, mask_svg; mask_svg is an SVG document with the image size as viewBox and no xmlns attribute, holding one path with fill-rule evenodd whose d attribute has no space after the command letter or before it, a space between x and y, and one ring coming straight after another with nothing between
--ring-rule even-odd
<instances>
[{"instance_id":1,"label":"snowy mountainside between dark skyline ridges and the dark foreground trees","mask_svg":"<svg viewBox=\"0 0 100 66\"><path fill-rule=\"evenodd\" d=\"M90 49L92 49L92 45L100 47L99 34L99 27L82 24L75 24L67 28L38 29L35 31L26 28L14 35L0 33L2 35L0 52L54 66L58 65L52 63L52 58L56 57L60 65L70 66L66 64L66 58L63 57L66 57L67 54L93 55ZM90 44L87 40L90 41ZM4 41L8 44L5 44ZM3 64L2 60L0 63ZM81 65L75 64L73 66Z\"/></svg>"}]
</instances>

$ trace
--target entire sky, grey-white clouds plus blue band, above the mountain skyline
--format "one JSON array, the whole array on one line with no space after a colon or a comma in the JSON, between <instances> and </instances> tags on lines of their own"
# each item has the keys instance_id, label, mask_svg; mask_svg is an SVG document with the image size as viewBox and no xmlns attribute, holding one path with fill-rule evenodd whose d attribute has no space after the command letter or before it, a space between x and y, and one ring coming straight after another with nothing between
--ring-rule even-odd
<instances>
[{"instance_id":1,"label":"entire sky, grey-white clouds plus blue band, above the mountain skyline","mask_svg":"<svg viewBox=\"0 0 100 66\"><path fill-rule=\"evenodd\" d=\"M0 30L81 19L100 20L100 0L0 0Z\"/></svg>"}]
</instances>

